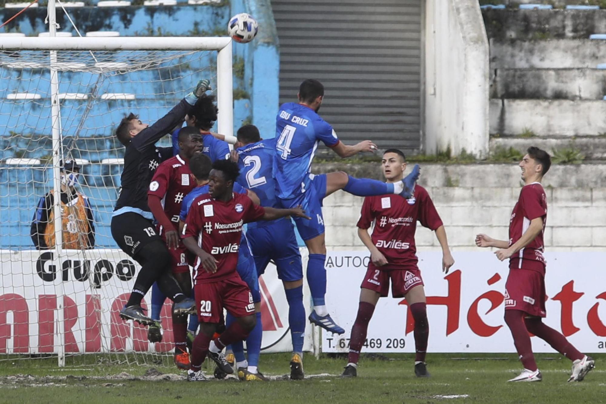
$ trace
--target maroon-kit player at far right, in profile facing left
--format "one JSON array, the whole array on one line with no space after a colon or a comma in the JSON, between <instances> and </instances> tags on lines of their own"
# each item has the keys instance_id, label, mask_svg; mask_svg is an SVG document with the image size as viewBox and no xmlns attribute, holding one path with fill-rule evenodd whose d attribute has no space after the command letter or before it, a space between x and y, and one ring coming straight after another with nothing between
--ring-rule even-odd
<instances>
[{"instance_id":1,"label":"maroon-kit player at far right, in profile facing left","mask_svg":"<svg viewBox=\"0 0 606 404\"><path fill-rule=\"evenodd\" d=\"M505 283L505 323L524 370L509 382L541 382L534 361L528 332L545 340L553 349L573 361L568 382L581 382L593 369L594 360L582 354L564 335L542 322L545 317L545 259L543 234L547 223L547 198L541 180L551 158L545 150L529 147L519 163L524 187L509 221L509 241L495 240L485 234L476 236L478 247L496 247L499 260L509 258L509 276Z\"/></svg>"}]
</instances>

